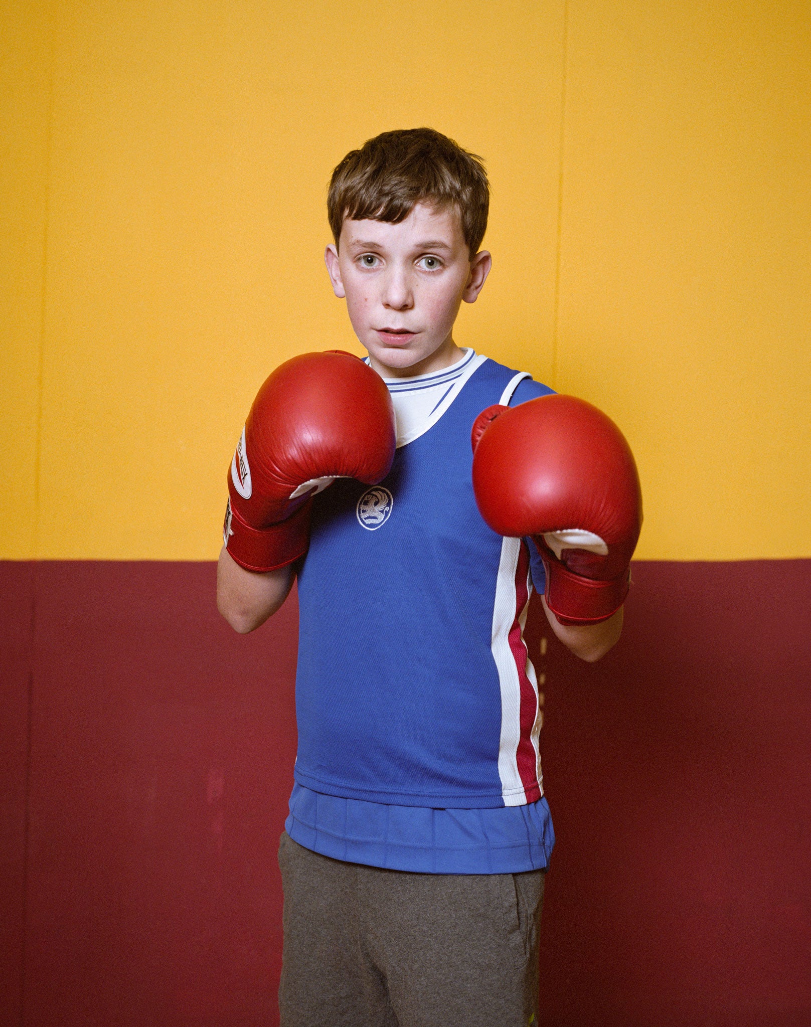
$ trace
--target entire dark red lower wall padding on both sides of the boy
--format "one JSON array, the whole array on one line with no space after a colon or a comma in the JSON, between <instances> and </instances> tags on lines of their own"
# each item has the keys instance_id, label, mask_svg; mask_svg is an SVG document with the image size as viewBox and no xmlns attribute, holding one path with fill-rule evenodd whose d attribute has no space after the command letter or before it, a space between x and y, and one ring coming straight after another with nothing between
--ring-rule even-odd
<instances>
[{"instance_id":1,"label":"entire dark red lower wall padding on both sides of the boy","mask_svg":"<svg viewBox=\"0 0 811 1027\"><path fill-rule=\"evenodd\" d=\"M531 620L558 837L541 1022L808 1025L811 561L634 579L598 664L540 657ZM239 637L214 583L0 564L2 1024L277 1022L297 611Z\"/></svg>"}]
</instances>

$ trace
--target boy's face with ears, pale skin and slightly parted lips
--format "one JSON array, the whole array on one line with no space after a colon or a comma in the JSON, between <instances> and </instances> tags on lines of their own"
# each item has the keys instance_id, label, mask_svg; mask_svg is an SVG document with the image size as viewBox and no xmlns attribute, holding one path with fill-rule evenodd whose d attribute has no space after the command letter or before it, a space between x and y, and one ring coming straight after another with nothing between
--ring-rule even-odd
<instances>
[{"instance_id":1,"label":"boy's face with ears, pale skin and slightly parted lips","mask_svg":"<svg viewBox=\"0 0 811 1027\"><path fill-rule=\"evenodd\" d=\"M346 219L340 246L329 245L324 259L379 374L405 377L456 363L459 305L475 301L491 265L487 251L470 260L456 207L417 203L396 225Z\"/></svg>"}]
</instances>

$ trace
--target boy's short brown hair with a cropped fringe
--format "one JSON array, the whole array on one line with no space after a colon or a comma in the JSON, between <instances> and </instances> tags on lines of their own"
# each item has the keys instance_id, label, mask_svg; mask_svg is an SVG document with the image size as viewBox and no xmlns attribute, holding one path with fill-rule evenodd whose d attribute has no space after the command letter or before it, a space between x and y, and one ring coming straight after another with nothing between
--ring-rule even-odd
<instances>
[{"instance_id":1,"label":"boy's short brown hair with a cropped fringe","mask_svg":"<svg viewBox=\"0 0 811 1027\"><path fill-rule=\"evenodd\" d=\"M333 172L326 211L336 245L345 218L408 218L424 200L441 210L456 205L471 258L488 227L490 187L485 164L433 128L401 128L369 139Z\"/></svg>"}]
</instances>

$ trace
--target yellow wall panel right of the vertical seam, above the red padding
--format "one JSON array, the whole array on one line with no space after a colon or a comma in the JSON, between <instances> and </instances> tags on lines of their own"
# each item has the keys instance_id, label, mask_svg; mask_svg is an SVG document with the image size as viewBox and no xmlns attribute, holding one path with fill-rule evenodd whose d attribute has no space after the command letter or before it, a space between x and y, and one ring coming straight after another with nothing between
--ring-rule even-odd
<instances>
[{"instance_id":1,"label":"yellow wall panel right of the vertical seam, above the red padding","mask_svg":"<svg viewBox=\"0 0 811 1027\"><path fill-rule=\"evenodd\" d=\"M807 0L571 4L556 384L642 557L811 556L810 100Z\"/></svg>"}]
</instances>

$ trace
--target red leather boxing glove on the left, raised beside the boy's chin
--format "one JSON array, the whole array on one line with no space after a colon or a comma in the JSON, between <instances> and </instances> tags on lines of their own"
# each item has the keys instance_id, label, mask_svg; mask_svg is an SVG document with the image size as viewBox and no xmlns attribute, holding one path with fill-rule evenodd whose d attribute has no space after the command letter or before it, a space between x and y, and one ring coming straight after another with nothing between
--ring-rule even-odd
<instances>
[{"instance_id":1,"label":"red leather boxing glove on the left, raised beside the boy's chin","mask_svg":"<svg viewBox=\"0 0 811 1027\"><path fill-rule=\"evenodd\" d=\"M338 349L294 356L257 393L228 473L223 538L249 571L304 556L312 497L336 478L382 481L394 459L383 379Z\"/></svg>"}]
</instances>

